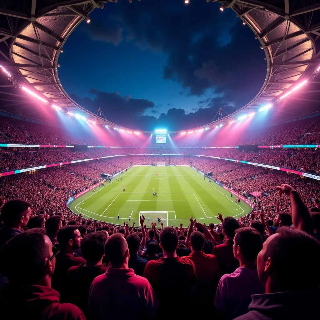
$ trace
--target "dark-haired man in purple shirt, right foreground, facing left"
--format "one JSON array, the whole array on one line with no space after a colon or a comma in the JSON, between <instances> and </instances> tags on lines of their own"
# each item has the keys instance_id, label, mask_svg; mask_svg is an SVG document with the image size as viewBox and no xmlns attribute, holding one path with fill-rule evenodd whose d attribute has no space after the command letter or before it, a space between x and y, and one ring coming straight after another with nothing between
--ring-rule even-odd
<instances>
[{"instance_id":1,"label":"dark-haired man in purple shirt, right foreground, facing left","mask_svg":"<svg viewBox=\"0 0 320 320\"><path fill-rule=\"evenodd\" d=\"M233 254L240 267L221 277L214 305L218 318L234 319L248 312L251 295L264 292L257 271L256 259L262 248L262 236L254 228L236 230Z\"/></svg>"}]
</instances>

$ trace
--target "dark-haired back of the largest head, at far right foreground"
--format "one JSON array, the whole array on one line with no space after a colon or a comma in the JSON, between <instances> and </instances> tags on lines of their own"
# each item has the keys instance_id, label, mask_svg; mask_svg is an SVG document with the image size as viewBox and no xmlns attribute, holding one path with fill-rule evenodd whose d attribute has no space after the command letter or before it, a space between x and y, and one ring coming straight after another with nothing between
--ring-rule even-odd
<instances>
[{"instance_id":1,"label":"dark-haired back of the largest head, at far right foreground","mask_svg":"<svg viewBox=\"0 0 320 320\"><path fill-rule=\"evenodd\" d=\"M271 259L269 276L281 291L316 289L320 285L320 242L314 237L280 227L264 249L259 257L262 255L264 261Z\"/></svg>"}]
</instances>

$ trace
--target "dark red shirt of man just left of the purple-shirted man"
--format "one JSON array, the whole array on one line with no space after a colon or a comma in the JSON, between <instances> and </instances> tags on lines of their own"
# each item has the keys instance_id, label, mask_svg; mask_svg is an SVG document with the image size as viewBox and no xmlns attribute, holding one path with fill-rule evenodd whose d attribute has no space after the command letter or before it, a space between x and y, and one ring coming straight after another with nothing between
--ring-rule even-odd
<instances>
[{"instance_id":1,"label":"dark red shirt of man just left of the purple-shirted man","mask_svg":"<svg viewBox=\"0 0 320 320\"><path fill-rule=\"evenodd\" d=\"M212 254L217 257L221 275L232 273L239 268L239 261L233 255L233 240L226 240L213 248Z\"/></svg>"}]
</instances>

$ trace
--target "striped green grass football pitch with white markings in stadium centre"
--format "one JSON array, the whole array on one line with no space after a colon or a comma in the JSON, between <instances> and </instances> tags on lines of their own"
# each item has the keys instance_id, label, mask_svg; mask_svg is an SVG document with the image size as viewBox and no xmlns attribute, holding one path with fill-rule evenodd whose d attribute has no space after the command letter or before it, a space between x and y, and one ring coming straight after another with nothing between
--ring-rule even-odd
<instances>
[{"instance_id":1,"label":"striped green grass football pitch with white markings in stadium centre","mask_svg":"<svg viewBox=\"0 0 320 320\"><path fill-rule=\"evenodd\" d=\"M126 191L122 190L123 183ZM152 188L157 197L153 197ZM69 208L86 218L114 224L128 222L131 214L130 223L135 221L136 227L140 211L168 211L168 225L179 226L182 222L187 227L190 216L208 225L220 223L219 212L223 217L237 219L251 211L244 202L234 201L235 196L231 198L228 191L204 180L191 167L134 167L122 175L122 180L115 178L105 187L87 192L69 204ZM149 224L148 217L145 223Z\"/></svg>"}]
</instances>

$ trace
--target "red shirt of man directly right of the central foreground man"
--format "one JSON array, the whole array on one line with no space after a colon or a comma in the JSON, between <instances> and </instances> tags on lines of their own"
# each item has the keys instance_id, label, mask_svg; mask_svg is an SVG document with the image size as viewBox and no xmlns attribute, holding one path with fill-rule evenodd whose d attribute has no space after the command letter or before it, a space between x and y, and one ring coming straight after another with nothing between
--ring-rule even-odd
<instances>
[{"instance_id":1,"label":"red shirt of man directly right of the central foreground man","mask_svg":"<svg viewBox=\"0 0 320 320\"><path fill-rule=\"evenodd\" d=\"M204 252L191 252L182 260L189 259L196 266L197 272L197 297L199 301L211 300L215 296L220 279L220 268L217 258L213 254Z\"/></svg>"}]
</instances>

